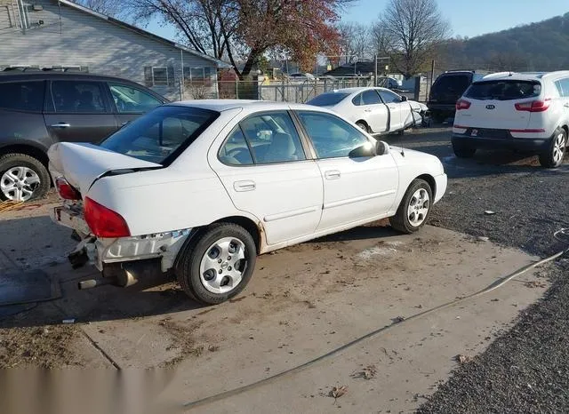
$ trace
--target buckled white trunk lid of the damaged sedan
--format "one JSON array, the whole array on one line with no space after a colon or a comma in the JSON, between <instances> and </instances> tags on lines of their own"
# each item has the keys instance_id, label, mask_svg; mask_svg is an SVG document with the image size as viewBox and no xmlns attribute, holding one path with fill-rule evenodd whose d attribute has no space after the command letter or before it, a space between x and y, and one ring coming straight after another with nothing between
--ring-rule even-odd
<instances>
[{"instance_id":1,"label":"buckled white trunk lid of the damaged sedan","mask_svg":"<svg viewBox=\"0 0 569 414\"><path fill-rule=\"evenodd\" d=\"M92 183L108 173L128 173L161 168L132 156L122 155L103 147L86 143L59 142L48 151L52 179L64 177L85 195Z\"/></svg>"}]
</instances>

